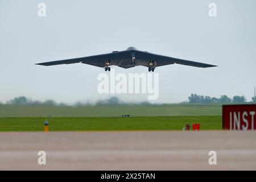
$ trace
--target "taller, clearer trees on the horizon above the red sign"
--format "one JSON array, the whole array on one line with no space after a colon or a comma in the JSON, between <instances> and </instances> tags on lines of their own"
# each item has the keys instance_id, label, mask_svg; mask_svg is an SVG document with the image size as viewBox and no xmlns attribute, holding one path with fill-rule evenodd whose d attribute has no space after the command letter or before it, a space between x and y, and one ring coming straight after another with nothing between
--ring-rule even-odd
<instances>
[{"instance_id":1,"label":"taller, clearer trees on the horizon above the red sign","mask_svg":"<svg viewBox=\"0 0 256 182\"><path fill-rule=\"evenodd\" d=\"M256 102L256 97L252 98L253 102ZM233 98L229 98L226 95L222 95L220 98L217 97L209 97L209 96L200 96L197 94L191 94L188 97L189 103L199 103L199 104L230 104L230 103L245 103L245 96L234 96Z\"/></svg>"}]
</instances>

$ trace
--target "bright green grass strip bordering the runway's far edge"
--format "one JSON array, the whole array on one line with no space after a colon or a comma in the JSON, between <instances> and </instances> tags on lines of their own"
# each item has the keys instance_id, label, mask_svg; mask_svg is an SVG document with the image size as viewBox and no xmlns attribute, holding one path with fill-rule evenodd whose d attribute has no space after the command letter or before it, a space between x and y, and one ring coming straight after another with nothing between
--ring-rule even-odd
<instances>
[{"instance_id":1,"label":"bright green grass strip bordering the runway's far edge","mask_svg":"<svg viewBox=\"0 0 256 182\"><path fill-rule=\"evenodd\" d=\"M47 118L0 118L0 131L44 131ZM50 131L182 130L200 123L201 130L220 130L221 116L48 118Z\"/></svg>"}]
</instances>

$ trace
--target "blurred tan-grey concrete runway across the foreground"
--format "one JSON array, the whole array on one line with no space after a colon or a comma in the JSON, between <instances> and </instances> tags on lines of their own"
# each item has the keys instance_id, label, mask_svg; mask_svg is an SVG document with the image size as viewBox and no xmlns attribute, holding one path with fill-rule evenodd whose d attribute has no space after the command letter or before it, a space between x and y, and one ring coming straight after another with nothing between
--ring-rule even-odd
<instances>
[{"instance_id":1,"label":"blurred tan-grey concrete runway across the foreground","mask_svg":"<svg viewBox=\"0 0 256 182\"><path fill-rule=\"evenodd\" d=\"M46 165L38 152L46 152ZM210 165L209 151L217 152ZM256 170L255 131L0 133L1 170Z\"/></svg>"}]
</instances>

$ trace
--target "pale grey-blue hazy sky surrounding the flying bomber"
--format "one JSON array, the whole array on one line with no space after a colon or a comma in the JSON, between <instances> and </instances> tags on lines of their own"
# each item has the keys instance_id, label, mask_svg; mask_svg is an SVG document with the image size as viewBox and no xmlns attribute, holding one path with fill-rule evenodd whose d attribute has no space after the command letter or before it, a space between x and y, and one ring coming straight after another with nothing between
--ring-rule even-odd
<instances>
[{"instance_id":1,"label":"pale grey-blue hazy sky surrounding the flying bomber","mask_svg":"<svg viewBox=\"0 0 256 182\"><path fill-rule=\"evenodd\" d=\"M38 4L46 4L46 17ZM208 15L216 3L217 17ZM99 94L102 68L86 64L42 67L53 61L121 51L142 51L218 65L167 65L159 73L159 99L181 102L191 93L245 95L256 85L256 1L50 1L0 0L0 101L16 96L62 102L147 100L145 94ZM115 68L148 73L146 67Z\"/></svg>"}]
</instances>

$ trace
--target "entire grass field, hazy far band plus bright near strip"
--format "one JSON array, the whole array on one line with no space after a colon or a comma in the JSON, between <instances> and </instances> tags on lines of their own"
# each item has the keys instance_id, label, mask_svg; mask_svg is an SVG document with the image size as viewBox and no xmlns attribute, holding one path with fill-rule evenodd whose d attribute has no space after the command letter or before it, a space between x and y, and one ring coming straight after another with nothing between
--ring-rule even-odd
<instances>
[{"instance_id":1,"label":"entire grass field, hazy far band plus bright near strip","mask_svg":"<svg viewBox=\"0 0 256 182\"><path fill-rule=\"evenodd\" d=\"M46 120L51 131L182 130L196 122L219 130L221 105L0 105L0 131L43 131Z\"/></svg>"}]
</instances>

